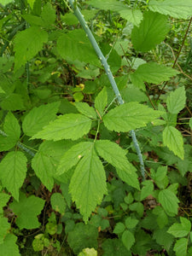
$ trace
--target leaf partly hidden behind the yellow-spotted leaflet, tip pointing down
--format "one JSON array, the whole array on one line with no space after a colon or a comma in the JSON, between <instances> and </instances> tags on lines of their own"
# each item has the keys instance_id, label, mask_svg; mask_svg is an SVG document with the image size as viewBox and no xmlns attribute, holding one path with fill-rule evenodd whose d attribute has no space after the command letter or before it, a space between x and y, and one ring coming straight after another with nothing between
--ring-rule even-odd
<instances>
[{"instance_id":1,"label":"leaf partly hidden behind the yellow-spotted leaflet, tip pointing down","mask_svg":"<svg viewBox=\"0 0 192 256\"><path fill-rule=\"evenodd\" d=\"M73 143L70 141L46 141L40 145L38 153L33 157L32 169L49 191L53 189L55 172L61 156L72 146Z\"/></svg>"}]
</instances>

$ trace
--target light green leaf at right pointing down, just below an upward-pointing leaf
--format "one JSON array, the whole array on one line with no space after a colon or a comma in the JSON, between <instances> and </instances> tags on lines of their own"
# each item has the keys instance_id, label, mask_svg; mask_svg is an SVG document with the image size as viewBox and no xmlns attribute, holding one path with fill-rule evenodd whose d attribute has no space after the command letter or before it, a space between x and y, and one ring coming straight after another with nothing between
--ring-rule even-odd
<instances>
[{"instance_id":1,"label":"light green leaf at right pointing down, just below an upward-pointing leaf","mask_svg":"<svg viewBox=\"0 0 192 256\"><path fill-rule=\"evenodd\" d=\"M184 159L183 137L175 127L166 126L163 131L163 143L174 154Z\"/></svg>"}]
</instances>

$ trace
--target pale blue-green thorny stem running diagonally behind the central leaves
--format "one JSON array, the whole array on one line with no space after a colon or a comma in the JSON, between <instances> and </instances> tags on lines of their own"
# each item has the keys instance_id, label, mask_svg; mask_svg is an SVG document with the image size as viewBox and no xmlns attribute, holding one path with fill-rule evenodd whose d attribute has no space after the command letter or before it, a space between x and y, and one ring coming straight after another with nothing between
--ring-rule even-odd
<instances>
[{"instance_id":1,"label":"pale blue-green thorny stem running diagonally behind the central leaves","mask_svg":"<svg viewBox=\"0 0 192 256\"><path fill-rule=\"evenodd\" d=\"M123 104L124 101L119 93L119 89L118 86L113 78L113 74L111 73L110 67L108 65L108 61L106 60L105 56L102 54L102 50L100 49L99 45L96 43L96 39L94 38L92 32L90 31L89 26L87 25L86 21L84 20L84 16L81 14L79 8L77 7L77 5L73 5L74 1L73 0L68 0L68 2L70 3L74 15L78 18L81 26L83 26L84 28L84 32L86 33L87 37L90 39L90 43L92 44L93 48L96 51L96 55L98 56L99 60L102 62L103 67L105 68L105 72L108 75L108 79L113 87L113 91L115 93L115 96L117 97L117 100L119 102L119 104ZM137 151L137 155L140 161L140 167L141 167L141 173L143 176L143 180L145 179L145 169L144 169L144 163L143 163L143 155L141 153L141 149L137 143L137 137L135 134L135 131L131 131L131 137L134 143L134 146L136 148Z\"/></svg>"}]
</instances>

